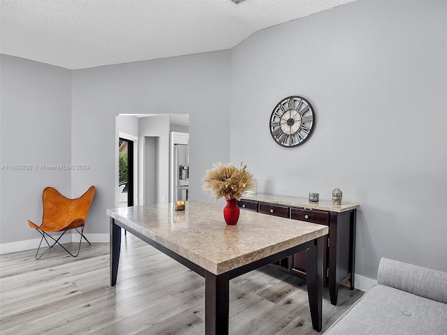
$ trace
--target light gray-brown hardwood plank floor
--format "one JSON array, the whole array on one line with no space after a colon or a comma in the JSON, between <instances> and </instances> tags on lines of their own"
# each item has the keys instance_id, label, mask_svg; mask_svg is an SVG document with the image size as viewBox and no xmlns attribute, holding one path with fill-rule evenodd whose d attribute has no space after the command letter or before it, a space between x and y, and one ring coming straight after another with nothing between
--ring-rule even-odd
<instances>
[{"instance_id":1,"label":"light gray-brown hardwood plank floor","mask_svg":"<svg viewBox=\"0 0 447 335\"><path fill-rule=\"evenodd\" d=\"M2 335L205 334L204 279L132 234L122 238L115 287L108 244L82 244L77 258L60 247L35 253L0 256ZM342 286L332 306L323 288L323 331L362 294ZM230 281L230 334L319 334L305 281L270 267Z\"/></svg>"}]
</instances>

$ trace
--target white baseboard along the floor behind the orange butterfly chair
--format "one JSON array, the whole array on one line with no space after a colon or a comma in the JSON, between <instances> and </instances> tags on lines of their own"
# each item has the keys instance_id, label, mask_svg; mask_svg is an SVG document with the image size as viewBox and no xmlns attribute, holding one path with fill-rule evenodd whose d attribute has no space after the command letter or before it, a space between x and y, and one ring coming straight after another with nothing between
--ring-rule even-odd
<instances>
[{"instance_id":1,"label":"white baseboard along the floor behind the orange butterfly chair","mask_svg":"<svg viewBox=\"0 0 447 335\"><path fill-rule=\"evenodd\" d=\"M55 239L59 237L60 235L54 236ZM79 243L81 235L80 234L65 234L61 239L60 243ZM90 242L110 242L109 234L85 234L85 237ZM41 243L41 239L27 239L25 241L16 241L16 242L10 242L10 243L3 243L0 244L0 255L3 255L4 253L15 253L16 251L24 251L29 249L36 249L39 246L39 243ZM46 246L45 241L42 242L43 245ZM85 239L82 239L82 243L87 243Z\"/></svg>"}]
</instances>

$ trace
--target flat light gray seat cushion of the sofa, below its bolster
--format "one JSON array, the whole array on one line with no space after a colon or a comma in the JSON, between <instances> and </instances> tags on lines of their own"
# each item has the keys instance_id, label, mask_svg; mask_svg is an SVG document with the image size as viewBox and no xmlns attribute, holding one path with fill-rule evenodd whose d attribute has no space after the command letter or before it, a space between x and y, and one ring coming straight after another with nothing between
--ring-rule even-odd
<instances>
[{"instance_id":1,"label":"flat light gray seat cushion of the sofa, below its bolster","mask_svg":"<svg viewBox=\"0 0 447 335\"><path fill-rule=\"evenodd\" d=\"M374 285L325 335L447 334L447 304Z\"/></svg>"}]
</instances>

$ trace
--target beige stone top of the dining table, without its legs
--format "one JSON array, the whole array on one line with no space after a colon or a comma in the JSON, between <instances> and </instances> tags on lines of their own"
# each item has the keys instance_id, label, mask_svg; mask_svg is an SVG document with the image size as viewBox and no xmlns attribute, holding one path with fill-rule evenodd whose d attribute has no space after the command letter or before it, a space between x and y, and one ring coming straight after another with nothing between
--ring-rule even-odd
<instances>
[{"instance_id":1,"label":"beige stone top of the dining table, without its legs","mask_svg":"<svg viewBox=\"0 0 447 335\"><path fill-rule=\"evenodd\" d=\"M170 204L119 207L108 216L212 272L223 274L328 234L327 225L240 211L227 225L223 206L187 201L184 211Z\"/></svg>"}]
</instances>

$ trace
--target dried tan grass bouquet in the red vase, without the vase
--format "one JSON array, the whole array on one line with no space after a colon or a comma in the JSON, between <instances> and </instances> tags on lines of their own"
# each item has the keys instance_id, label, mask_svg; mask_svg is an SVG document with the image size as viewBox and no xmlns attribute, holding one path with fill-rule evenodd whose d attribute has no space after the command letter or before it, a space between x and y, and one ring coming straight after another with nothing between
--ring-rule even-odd
<instances>
[{"instance_id":1,"label":"dried tan grass bouquet in the red vase, without the vase","mask_svg":"<svg viewBox=\"0 0 447 335\"><path fill-rule=\"evenodd\" d=\"M214 164L214 168L205 172L203 191L210 192L216 198L240 199L247 192L256 192L258 185L253 174L247 171L247 165L236 168L235 165Z\"/></svg>"}]
</instances>

